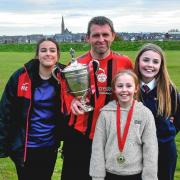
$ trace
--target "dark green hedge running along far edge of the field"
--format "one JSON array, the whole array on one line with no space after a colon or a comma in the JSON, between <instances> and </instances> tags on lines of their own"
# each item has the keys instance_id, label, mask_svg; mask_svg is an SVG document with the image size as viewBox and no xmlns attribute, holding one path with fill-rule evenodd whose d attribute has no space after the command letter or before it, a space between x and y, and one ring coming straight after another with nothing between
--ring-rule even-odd
<instances>
[{"instance_id":1,"label":"dark green hedge running along far edge of the field","mask_svg":"<svg viewBox=\"0 0 180 180\"><path fill-rule=\"evenodd\" d=\"M180 41L115 41L111 49L114 51L136 51L145 43L154 43L163 50L180 50ZM61 51L67 52L70 48L76 51L89 50L89 44L85 42L59 43ZM34 52L36 44L0 44L0 52Z\"/></svg>"}]
</instances>

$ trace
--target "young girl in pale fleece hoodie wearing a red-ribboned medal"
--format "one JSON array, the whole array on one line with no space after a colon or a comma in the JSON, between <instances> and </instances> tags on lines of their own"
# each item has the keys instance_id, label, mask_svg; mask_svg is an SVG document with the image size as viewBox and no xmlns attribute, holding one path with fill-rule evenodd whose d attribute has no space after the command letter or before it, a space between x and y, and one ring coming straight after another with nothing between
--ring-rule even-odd
<instances>
[{"instance_id":1,"label":"young girl in pale fleece hoodie wearing a red-ribboned medal","mask_svg":"<svg viewBox=\"0 0 180 180\"><path fill-rule=\"evenodd\" d=\"M115 99L101 109L92 144L93 180L157 180L158 145L151 111L134 100L137 76L120 71L112 81Z\"/></svg>"}]
</instances>

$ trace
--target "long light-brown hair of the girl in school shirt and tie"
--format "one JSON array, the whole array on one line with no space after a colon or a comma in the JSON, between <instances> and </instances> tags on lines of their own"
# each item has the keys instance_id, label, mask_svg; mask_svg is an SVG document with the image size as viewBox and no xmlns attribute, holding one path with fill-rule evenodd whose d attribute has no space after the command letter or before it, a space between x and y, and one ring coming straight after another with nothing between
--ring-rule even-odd
<instances>
[{"instance_id":1,"label":"long light-brown hair of the girl in school shirt and tie","mask_svg":"<svg viewBox=\"0 0 180 180\"><path fill-rule=\"evenodd\" d=\"M158 53L161 57L161 65L158 74L156 75L157 82L157 100L158 100L158 114L170 116L171 115L171 89L172 85L175 88L175 85L172 83L169 73L167 71L166 60L163 53L163 50L155 44L145 44L141 50L138 52L135 59L135 73L142 80L142 75L139 71L139 59L141 55L146 51L154 51Z\"/></svg>"}]
</instances>

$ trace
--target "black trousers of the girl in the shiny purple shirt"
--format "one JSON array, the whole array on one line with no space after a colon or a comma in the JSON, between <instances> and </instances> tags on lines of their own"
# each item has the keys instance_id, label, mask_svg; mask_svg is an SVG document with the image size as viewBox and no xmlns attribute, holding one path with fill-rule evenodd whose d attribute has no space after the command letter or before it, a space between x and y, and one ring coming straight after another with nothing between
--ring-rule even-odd
<instances>
[{"instance_id":1,"label":"black trousers of the girl in the shiny purple shirt","mask_svg":"<svg viewBox=\"0 0 180 180\"><path fill-rule=\"evenodd\" d=\"M51 180L57 158L57 148L28 148L24 164L15 162L18 180Z\"/></svg>"}]
</instances>

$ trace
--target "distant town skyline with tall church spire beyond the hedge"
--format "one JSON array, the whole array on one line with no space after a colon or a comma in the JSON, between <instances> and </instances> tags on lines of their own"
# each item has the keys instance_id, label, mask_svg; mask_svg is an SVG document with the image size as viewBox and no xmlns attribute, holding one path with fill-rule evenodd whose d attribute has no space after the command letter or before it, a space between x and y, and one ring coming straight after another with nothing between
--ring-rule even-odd
<instances>
[{"instance_id":1,"label":"distant town skyline with tall church spire beyond the hedge","mask_svg":"<svg viewBox=\"0 0 180 180\"><path fill-rule=\"evenodd\" d=\"M72 33L65 26L64 17L61 19L61 30L57 34L43 35L32 34L27 36L0 36L0 44L23 44L23 43L37 43L44 37L54 38L57 42L83 42L86 39L86 33ZM178 29L172 29L167 33L158 32L139 32L128 33L118 32L117 36L124 41L139 41L139 40L180 40L180 31Z\"/></svg>"}]
</instances>

